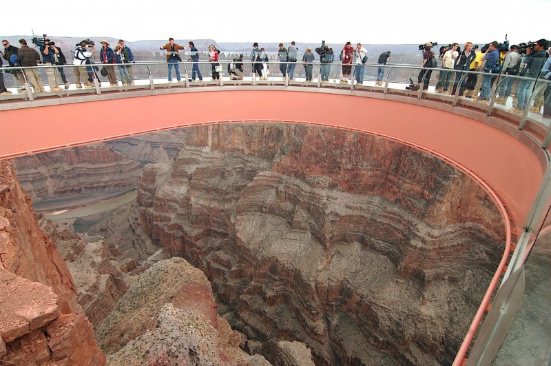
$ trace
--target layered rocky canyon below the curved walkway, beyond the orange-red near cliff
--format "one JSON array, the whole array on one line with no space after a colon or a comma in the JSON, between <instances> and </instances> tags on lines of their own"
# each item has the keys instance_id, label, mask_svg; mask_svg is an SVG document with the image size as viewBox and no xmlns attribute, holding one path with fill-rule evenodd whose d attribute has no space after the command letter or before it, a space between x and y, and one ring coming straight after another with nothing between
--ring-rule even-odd
<instances>
[{"instance_id":1,"label":"layered rocky canyon below the curved walkway, beyond the orange-red near cliff","mask_svg":"<svg viewBox=\"0 0 551 366\"><path fill-rule=\"evenodd\" d=\"M14 165L38 203L137 185L88 236L40 221L114 365L448 365L503 252L481 187L380 137L255 123L96 145Z\"/></svg>"}]
</instances>

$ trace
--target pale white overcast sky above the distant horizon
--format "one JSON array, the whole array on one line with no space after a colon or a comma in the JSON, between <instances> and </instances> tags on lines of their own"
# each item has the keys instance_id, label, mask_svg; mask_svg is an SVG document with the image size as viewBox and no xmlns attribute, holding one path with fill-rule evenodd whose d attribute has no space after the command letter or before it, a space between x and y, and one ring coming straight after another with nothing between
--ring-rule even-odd
<instances>
[{"instance_id":1,"label":"pale white overcast sky above the distant horizon","mask_svg":"<svg viewBox=\"0 0 551 366\"><path fill-rule=\"evenodd\" d=\"M6 2L6 4L8 4ZM266 5L267 4L267 5ZM217 42L512 43L551 38L551 0L30 0L4 35L214 39ZM516 9L516 10L515 10Z\"/></svg>"}]
</instances>

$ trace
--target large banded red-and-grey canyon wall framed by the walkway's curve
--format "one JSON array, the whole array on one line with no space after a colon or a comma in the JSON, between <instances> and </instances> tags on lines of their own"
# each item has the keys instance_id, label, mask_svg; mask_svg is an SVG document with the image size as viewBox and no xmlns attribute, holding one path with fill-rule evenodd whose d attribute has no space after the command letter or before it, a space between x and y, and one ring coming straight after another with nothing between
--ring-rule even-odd
<instances>
[{"instance_id":1,"label":"large banded red-and-grey canyon wall framed by the walkway's curve","mask_svg":"<svg viewBox=\"0 0 551 366\"><path fill-rule=\"evenodd\" d=\"M435 157L303 125L190 130L145 167L138 204L232 327L306 343L317 365L451 363L505 237L488 194Z\"/></svg>"}]
</instances>

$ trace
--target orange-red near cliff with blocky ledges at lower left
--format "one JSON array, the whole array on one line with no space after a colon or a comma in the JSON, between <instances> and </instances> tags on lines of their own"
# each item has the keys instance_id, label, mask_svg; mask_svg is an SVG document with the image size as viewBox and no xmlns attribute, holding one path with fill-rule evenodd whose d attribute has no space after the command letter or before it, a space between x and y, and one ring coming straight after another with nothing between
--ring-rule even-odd
<instances>
[{"instance_id":1,"label":"orange-red near cliff with blocky ledges at lower left","mask_svg":"<svg viewBox=\"0 0 551 366\"><path fill-rule=\"evenodd\" d=\"M0 161L0 363L103 365L90 321L9 161Z\"/></svg>"}]
</instances>

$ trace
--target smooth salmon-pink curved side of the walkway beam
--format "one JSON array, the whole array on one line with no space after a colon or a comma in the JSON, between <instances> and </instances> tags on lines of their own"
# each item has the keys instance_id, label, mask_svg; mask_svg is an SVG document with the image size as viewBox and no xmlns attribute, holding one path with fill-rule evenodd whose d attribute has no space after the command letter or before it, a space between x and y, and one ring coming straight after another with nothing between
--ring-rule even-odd
<instances>
[{"instance_id":1,"label":"smooth salmon-pink curved side of the walkway beam","mask_svg":"<svg viewBox=\"0 0 551 366\"><path fill-rule=\"evenodd\" d=\"M489 125L421 105L331 93L228 90L139 96L0 112L0 159L205 123L300 121L421 145L472 170L522 226L541 183L537 156Z\"/></svg>"}]
</instances>

